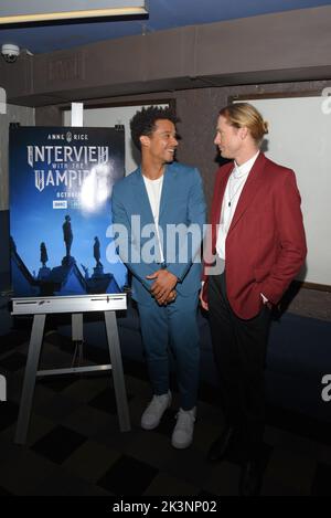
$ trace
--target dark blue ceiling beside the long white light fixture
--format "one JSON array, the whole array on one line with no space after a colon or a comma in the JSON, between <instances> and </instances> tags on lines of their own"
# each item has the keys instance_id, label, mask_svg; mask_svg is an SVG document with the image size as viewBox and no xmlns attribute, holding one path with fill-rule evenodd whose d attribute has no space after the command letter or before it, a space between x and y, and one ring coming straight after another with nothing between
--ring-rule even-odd
<instances>
[{"instance_id":1,"label":"dark blue ceiling beside the long white light fixture","mask_svg":"<svg viewBox=\"0 0 331 518\"><path fill-rule=\"evenodd\" d=\"M70 0L68 0L70 1ZM43 2L40 2L43 6ZM102 40L183 25L212 23L258 14L330 4L329 0L149 0L140 20L0 29L0 45L13 43L33 54L71 49ZM93 1L92 1L93 4Z\"/></svg>"}]
</instances>

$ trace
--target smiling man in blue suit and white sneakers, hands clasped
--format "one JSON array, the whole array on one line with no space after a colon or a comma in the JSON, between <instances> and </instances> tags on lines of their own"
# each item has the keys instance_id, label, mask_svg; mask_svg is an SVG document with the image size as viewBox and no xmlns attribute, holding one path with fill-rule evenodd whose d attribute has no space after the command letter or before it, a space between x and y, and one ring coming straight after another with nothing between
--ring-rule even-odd
<instances>
[{"instance_id":1,"label":"smiling man in blue suit and white sneakers, hands clasped","mask_svg":"<svg viewBox=\"0 0 331 518\"><path fill-rule=\"evenodd\" d=\"M172 445L184 448L193 440L196 412L196 308L205 202L197 169L173 162L175 121L169 108L142 108L135 115L131 137L141 151L141 166L115 184L111 203L119 254L132 273L132 297L153 389L141 426L157 427L171 404L170 346L180 392Z\"/></svg>"}]
</instances>

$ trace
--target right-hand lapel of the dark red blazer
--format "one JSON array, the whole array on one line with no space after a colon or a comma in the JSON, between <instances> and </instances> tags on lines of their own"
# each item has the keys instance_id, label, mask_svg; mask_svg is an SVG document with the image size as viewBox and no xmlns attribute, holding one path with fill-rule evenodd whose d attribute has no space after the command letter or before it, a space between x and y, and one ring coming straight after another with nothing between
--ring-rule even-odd
<instances>
[{"instance_id":1,"label":"right-hand lapel of the dark red blazer","mask_svg":"<svg viewBox=\"0 0 331 518\"><path fill-rule=\"evenodd\" d=\"M228 229L228 233L233 231L233 229L236 226L237 222L241 220L245 211L252 204L260 184L263 183L263 171L265 162L265 156L260 152L257 159L255 160L255 163L248 175L248 178L239 197L236 211L234 213L233 220Z\"/></svg>"}]
</instances>

